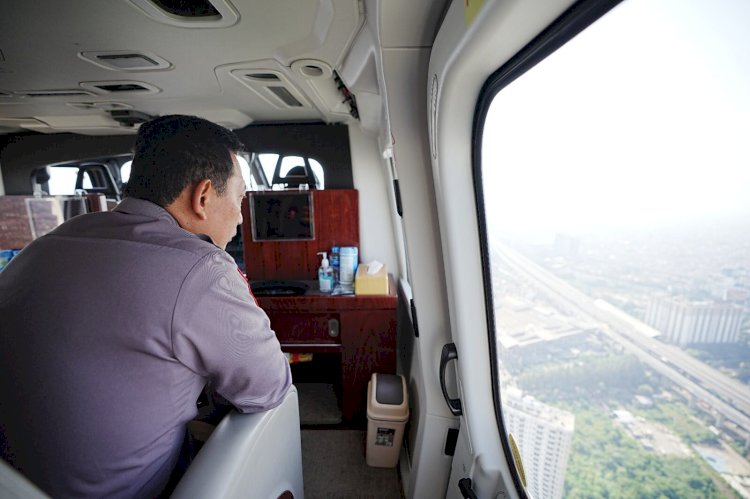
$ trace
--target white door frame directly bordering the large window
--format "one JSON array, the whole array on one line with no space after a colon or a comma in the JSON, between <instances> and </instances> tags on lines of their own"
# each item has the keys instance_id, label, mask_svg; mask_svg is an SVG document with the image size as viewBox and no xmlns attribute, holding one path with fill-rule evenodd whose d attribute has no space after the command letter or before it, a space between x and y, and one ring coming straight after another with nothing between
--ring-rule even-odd
<instances>
[{"instance_id":1,"label":"white door frame directly bordering the large window","mask_svg":"<svg viewBox=\"0 0 750 499\"><path fill-rule=\"evenodd\" d=\"M538 5L541 3L544 8ZM429 74L439 91L435 109L430 111L435 117L431 135L436 138L432 170L464 412L449 497L460 497L456 485L468 470L475 476L478 495L490 496L504 489L507 496L515 496L493 405L491 340L473 183L473 168L477 166L472 162L476 103L486 79L570 3L488 0L471 18L467 17L466 4L454 0L433 46ZM497 165L484 168L493 166ZM487 487L493 492L489 493Z\"/></svg>"}]
</instances>

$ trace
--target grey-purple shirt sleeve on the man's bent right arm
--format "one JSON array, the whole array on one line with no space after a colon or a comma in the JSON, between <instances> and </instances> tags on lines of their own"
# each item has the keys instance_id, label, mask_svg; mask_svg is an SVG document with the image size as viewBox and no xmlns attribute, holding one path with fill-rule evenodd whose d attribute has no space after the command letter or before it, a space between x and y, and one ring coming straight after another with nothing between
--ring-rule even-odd
<instances>
[{"instance_id":1,"label":"grey-purple shirt sleeve on the man's bent right arm","mask_svg":"<svg viewBox=\"0 0 750 499\"><path fill-rule=\"evenodd\" d=\"M228 254L203 257L185 278L172 318L177 360L208 378L240 412L281 403L292 382L266 313Z\"/></svg>"}]
</instances>

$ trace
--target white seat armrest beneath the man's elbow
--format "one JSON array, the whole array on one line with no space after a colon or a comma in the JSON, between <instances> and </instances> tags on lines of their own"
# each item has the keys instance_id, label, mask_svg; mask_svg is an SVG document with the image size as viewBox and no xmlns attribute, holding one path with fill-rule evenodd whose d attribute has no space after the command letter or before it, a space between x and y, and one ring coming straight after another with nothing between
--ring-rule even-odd
<instances>
[{"instance_id":1,"label":"white seat armrest beneath the man's elbow","mask_svg":"<svg viewBox=\"0 0 750 499\"><path fill-rule=\"evenodd\" d=\"M229 413L188 468L172 498L303 498L297 389L256 414Z\"/></svg>"}]
</instances>

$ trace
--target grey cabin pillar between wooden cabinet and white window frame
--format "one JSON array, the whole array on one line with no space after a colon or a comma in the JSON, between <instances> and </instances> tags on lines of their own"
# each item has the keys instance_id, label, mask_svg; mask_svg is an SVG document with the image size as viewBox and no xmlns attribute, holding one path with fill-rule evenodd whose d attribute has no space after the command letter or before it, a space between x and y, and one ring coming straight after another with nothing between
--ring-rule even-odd
<instances>
[{"instance_id":1,"label":"grey cabin pillar between wooden cabinet and white window frame","mask_svg":"<svg viewBox=\"0 0 750 499\"><path fill-rule=\"evenodd\" d=\"M409 267L409 283L404 284L409 288L407 299L414 300L419 333L418 338L399 338L399 348L407 342L405 348L412 352L407 363L411 368L404 373L412 398L408 497L445 495L452 462L452 456L444 452L445 440L448 430L458 426L439 381L440 353L450 342L450 330L427 137L429 55L427 47L384 47L382 51ZM399 326L400 334L409 330Z\"/></svg>"}]
</instances>

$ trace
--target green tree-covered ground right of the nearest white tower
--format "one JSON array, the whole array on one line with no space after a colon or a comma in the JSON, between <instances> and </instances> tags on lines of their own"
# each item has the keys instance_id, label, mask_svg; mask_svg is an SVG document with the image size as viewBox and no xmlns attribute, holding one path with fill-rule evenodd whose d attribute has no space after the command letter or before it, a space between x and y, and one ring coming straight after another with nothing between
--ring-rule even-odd
<instances>
[{"instance_id":1,"label":"green tree-covered ground right of the nearest white tower","mask_svg":"<svg viewBox=\"0 0 750 499\"><path fill-rule=\"evenodd\" d=\"M576 432L565 478L566 498L719 498L699 458L660 456L643 449L603 409L566 404Z\"/></svg>"}]
</instances>

